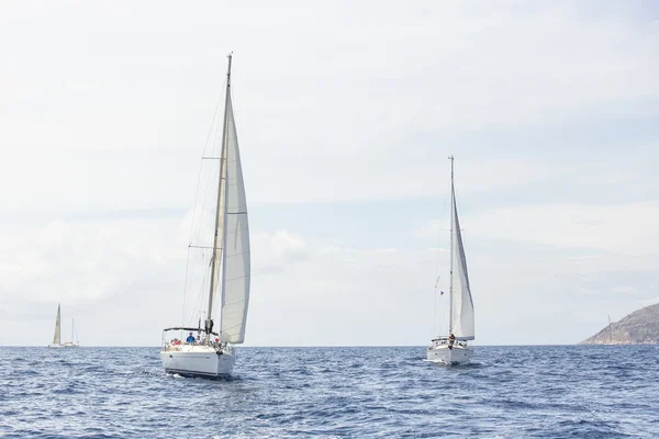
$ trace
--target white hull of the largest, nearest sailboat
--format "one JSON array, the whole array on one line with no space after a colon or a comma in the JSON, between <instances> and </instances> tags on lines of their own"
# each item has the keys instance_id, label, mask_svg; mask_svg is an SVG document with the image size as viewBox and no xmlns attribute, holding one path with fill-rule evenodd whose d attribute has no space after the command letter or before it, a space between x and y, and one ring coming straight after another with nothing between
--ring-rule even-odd
<instances>
[{"instance_id":1,"label":"white hull of the largest, nearest sailboat","mask_svg":"<svg viewBox=\"0 0 659 439\"><path fill-rule=\"evenodd\" d=\"M185 376L228 376L236 362L235 353L210 346L183 345L160 351L160 360L167 373Z\"/></svg>"}]
</instances>

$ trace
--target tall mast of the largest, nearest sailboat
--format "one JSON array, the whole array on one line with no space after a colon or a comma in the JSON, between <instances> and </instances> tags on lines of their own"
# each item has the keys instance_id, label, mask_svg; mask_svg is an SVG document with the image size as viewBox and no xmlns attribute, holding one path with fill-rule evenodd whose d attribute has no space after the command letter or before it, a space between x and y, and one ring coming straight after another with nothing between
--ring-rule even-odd
<instances>
[{"instance_id":1,"label":"tall mast of the largest, nearest sailboat","mask_svg":"<svg viewBox=\"0 0 659 439\"><path fill-rule=\"evenodd\" d=\"M213 238L213 256L211 258L211 284L209 288L209 307L206 311L206 320L205 320L205 331L209 335L206 337L208 342L211 341L211 331L213 330L213 292L217 288L216 285L216 275L215 272L221 269L217 267L217 262L222 263L224 258L220 259L217 257L217 244L220 244L220 251L222 256L224 254L224 245L226 241L225 238L225 228L226 228L226 130L228 123L228 100L231 93L231 57L232 54L227 55L228 58L228 69L226 71L226 92L224 97L224 121L222 126L222 153L220 156L220 180L217 181L217 206L215 209L215 228L214 228L214 238ZM220 210L223 212L220 212ZM220 215L222 215L222 237L219 235L217 225L220 223ZM220 243L219 239L222 239Z\"/></svg>"}]
</instances>

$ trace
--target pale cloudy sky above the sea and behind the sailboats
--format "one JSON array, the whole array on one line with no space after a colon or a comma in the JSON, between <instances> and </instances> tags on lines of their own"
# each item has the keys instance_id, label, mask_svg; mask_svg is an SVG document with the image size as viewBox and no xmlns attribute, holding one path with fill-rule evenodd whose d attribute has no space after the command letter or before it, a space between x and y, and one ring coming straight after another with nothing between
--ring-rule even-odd
<instances>
[{"instance_id":1,"label":"pale cloudy sky above the sea and behind the sailboats","mask_svg":"<svg viewBox=\"0 0 659 439\"><path fill-rule=\"evenodd\" d=\"M246 346L442 330L449 155L477 345L573 344L659 302L652 1L4 1L0 345L47 345L58 303L85 346L197 318L232 50Z\"/></svg>"}]
</instances>

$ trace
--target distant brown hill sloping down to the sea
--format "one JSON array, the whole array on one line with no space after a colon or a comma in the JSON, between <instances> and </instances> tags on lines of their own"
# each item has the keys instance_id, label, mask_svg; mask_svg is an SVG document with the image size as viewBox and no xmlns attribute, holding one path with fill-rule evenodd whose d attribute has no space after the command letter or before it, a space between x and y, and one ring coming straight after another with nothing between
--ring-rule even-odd
<instances>
[{"instance_id":1,"label":"distant brown hill sloping down to the sea","mask_svg":"<svg viewBox=\"0 0 659 439\"><path fill-rule=\"evenodd\" d=\"M658 345L659 303L629 314L579 345Z\"/></svg>"}]
</instances>

